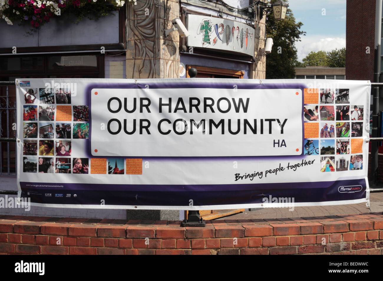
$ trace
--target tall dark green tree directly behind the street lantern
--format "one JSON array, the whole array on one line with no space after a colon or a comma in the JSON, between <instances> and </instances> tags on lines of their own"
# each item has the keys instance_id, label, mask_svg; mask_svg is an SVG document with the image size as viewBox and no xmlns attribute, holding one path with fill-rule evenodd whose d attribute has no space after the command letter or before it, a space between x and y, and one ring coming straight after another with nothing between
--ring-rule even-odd
<instances>
[{"instance_id":1,"label":"tall dark green tree directly behind the street lantern","mask_svg":"<svg viewBox=\"0 0 383 281\"><path fill-rule=\"evenodd\" d=\"M268 4L276 0L269 1ZM291 79L295 77L294 68L298 62L295 42L301 41L300 37L306 32L300 28L303 23L295 22L293 12L287 9L286 18L276 21L272 12L268 13L266 19L267 37L273 39L273 51L266 57L267 79Z\"/></svg>"}]
</instances>

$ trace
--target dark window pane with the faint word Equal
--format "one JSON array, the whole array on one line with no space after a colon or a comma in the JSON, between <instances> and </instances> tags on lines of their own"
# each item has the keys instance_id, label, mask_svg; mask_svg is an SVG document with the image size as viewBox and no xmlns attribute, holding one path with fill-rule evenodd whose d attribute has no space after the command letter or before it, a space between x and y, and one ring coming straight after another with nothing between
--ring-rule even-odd
<instances>
[{"instance_id":1,"label":"dark window pane with the faint word Equal","mask_svg":"<svg viewBox=\"0 0 383 281\"><path fill-rule=\"evenodd\" d=\"M73 68L97 68L97 56L76 55L49 57L50 70L71 70Z\"/></svg>"}]
</instances>

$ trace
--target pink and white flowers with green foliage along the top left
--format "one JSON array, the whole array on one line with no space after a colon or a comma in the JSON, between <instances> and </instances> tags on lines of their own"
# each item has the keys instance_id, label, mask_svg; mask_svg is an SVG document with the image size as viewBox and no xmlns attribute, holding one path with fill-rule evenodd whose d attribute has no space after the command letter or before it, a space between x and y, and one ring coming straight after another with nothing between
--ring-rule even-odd
<instances>
[{"instance_id":1,"label":"pink and white flowers with green foliage along the top left","mask_svg":"<svg viewBox=\"0 0 383 281\"><path fill-rule=\"evenodd\" d=\"M127 0L134 3L136 0ZM43 26L51 18L75 15L77 22L86 16L98 19L124 6L120 0L0 0L0 16L8 24L30 24L33 29Z\"/></svg>"}]
</instances>

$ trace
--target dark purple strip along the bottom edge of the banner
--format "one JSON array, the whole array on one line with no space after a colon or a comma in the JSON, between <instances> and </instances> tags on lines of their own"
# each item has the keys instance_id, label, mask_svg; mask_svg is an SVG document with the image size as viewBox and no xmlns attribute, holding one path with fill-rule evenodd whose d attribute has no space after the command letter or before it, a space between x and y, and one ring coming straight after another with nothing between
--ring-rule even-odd
<instances>
[{"instance_id":1,"label":"dark purple strip along the bottom edge of the banner","mask_svg":"<svg viewBox=\"0 0 383 281\"><path fill-rule=\"evenodd\" d=\"M26 182L21 182L24 187ZM41 184L41 183L38 183ZM312 187L312 185L315 187ZM311 186L310 186L311 185ZM340 192L345 186L358 186L357 192ZM358 200L366 197L365 179L339 180L331 182L304 182L275 184L248 184L240 191L239 185L166 185L134 186L135 190L120 190L126 185L67 184L65 189L22 188L22 197L31 197L34 203L100 205L103 199L108 205L118 206L185 206L193 198L194 206L235 205L264 203L263 198L294 198L294 203ZM84 188L85 187L85 188ZM96 187L96 188L95 188ZM111 188L108 192L102 188ZM164 187L165 190L158 190ZM186 187L186 188L182 188ZM88 189L89 188L89 189ZM91 189L90 189L91 188ZM153 188L154 190L148 190ZM118 189L118 190L116 190ZM187 189L187 190L185 190ZM233 190L234 189L234 190ZM171 191L170 191L171 190ZM181 191L182 190L182 191ZM187 192L185 192L187 191ZM76 196L74 196L76 195ZM123 202L123 203L121 203ZM161 202L160 204L158 202Z\"/></svg>"}]
</instances>

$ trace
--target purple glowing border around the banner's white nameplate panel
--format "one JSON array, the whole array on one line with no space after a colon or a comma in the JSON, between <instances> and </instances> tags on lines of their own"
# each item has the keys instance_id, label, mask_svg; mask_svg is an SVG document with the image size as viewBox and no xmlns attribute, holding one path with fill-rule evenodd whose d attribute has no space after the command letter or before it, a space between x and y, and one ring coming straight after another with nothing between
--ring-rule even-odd
<instances>
[{"instance_id":1,"label":"purple glowing border around the banner's white nameplate panel","mask_svg":"<svg viewBox=\"0 0 383 281\"><path fill-rule=\"evenodd\" d=\"M188 78L185 78L188 79ZM142 79L144 80L144 79ZM215 88L215 89L233 89L232 83L209 83L209 82L164 82L164 83L145 83L140 84L137 80L137 84L135 83L90 83L85 87L85 105L89 107L89 138L85 140L85 154L88 158L105 158L108 156L93 156L92 149L90 148L90 140L92 136L92 109L91 109L91 94L92 89L94 88L110 88L110 89L145 89L145 85L149 85L149 88L153 89L167 89L167 88ZM273 158L283 158L283 159L296 159L304 157L304 122L303 122L303 107L304 107L304 88L305 84L302 83L266 83L266 84L255 84L255 83L244 83L237 84L238 89L301 89L302 91L302 153L300 155L291 155L291 156L142 156L142 157L130 157L130 156L113 156L113 158L142 158L142 159L163 159L163 160L171 160L175 159L190 159L190 160L200 160L200 159L232 159L232 158L241 158L241 159L273 159Z\"/></svg>"}]
</instances>

